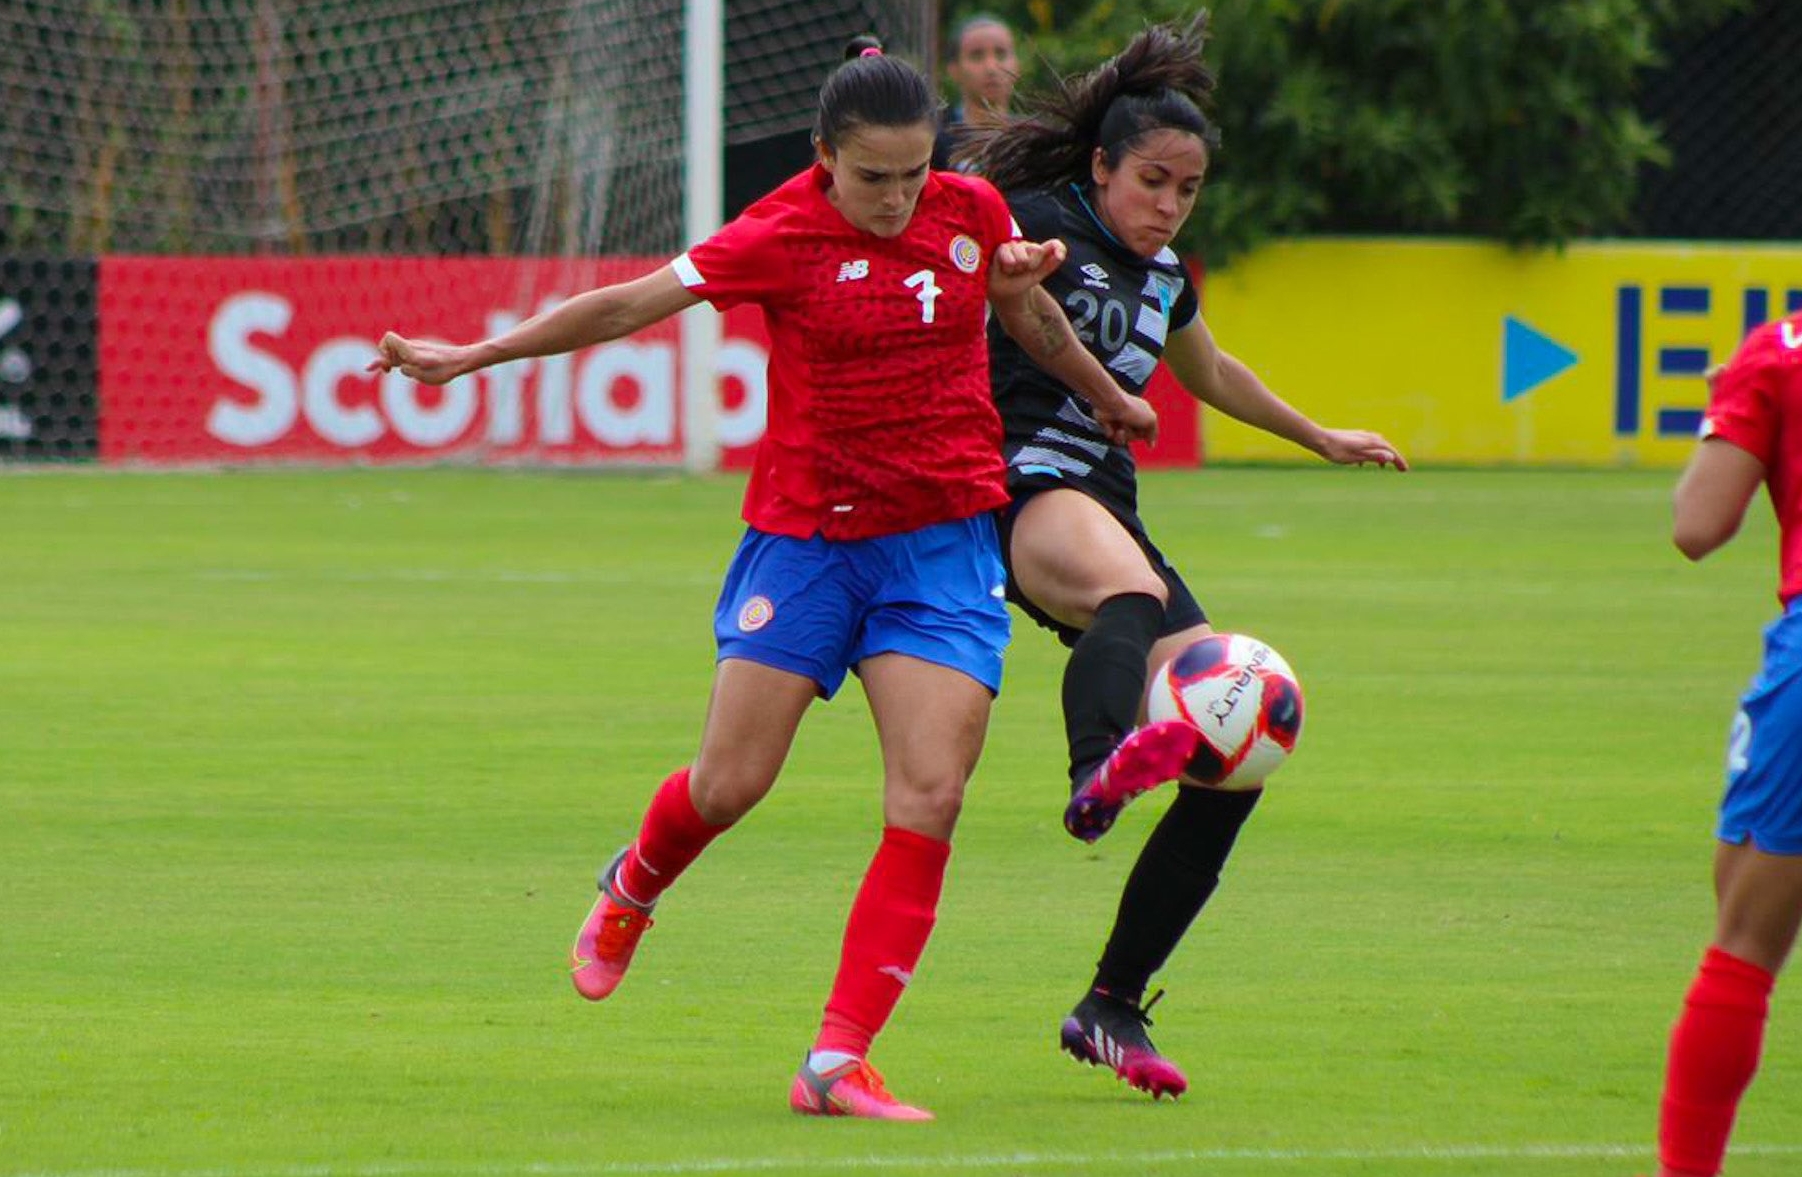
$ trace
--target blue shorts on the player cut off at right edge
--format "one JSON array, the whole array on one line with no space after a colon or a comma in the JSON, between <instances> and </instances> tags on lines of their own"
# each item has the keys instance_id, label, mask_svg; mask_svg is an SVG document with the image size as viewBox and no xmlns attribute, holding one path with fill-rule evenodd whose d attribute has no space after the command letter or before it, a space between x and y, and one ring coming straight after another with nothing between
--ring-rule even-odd
<instances>
[{"instance_id":1,"label":"blue shorts on the player cut off at right edge","mask_svg":"<svg viewBox=\"0 0 1802 1177\"><path fill-rule=\"evenodd\" d=\"M1764 629L1764 665L1726 741L1721 842L1802 854L1802 598Z\"/></svg>"}]
</instances>

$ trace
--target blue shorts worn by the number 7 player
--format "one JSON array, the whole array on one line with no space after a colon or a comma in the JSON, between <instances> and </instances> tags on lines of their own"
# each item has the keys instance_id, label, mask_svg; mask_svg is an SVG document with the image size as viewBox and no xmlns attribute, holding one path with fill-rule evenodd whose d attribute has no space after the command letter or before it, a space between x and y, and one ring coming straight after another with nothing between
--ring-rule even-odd
<instances>
[{"instance_id":1,"label":"blue shorts worn by the number 7 player","mask_svg":"<svg viewBox=\"0 0 1802 1177\"><path fill-rule=\"evenodd\" d=\"M989 514L874 539L739 541L714 609L719 656L805 674L827 699L876 654L962 671L998 694L1009 622Z\"/></svg>"}]
</instances>

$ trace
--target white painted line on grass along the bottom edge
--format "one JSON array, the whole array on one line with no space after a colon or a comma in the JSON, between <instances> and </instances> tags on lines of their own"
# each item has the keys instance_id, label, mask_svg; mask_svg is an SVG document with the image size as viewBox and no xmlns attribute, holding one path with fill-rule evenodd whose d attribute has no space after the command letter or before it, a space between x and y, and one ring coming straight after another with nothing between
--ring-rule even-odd
<instances>
[{"instance_id":1,"label":"white painted line on grass along the bottom edge","mask_svg":"<svg viewBox=\"0 0 1802 1177\"><path fill-rule=\"evenodd\" d=\"M1420 1145L1415 1148L1182 1148L1169 1152L1011 1152L914 1157L717 1157L697 1161L395 1161L382 1164L270 1164L243 1168L88 1168L25 1170L0 1177L613 1177L631 1173L769 1173L845 1170L993 1170L1096 1164L1195 1164L1202 1161L1584 1161L1634 1159L1652 1154L1647 1145ZM1735 1145L1734 1157L1802 1157L1802 1145Z\"/></svg>"}]
</instances>

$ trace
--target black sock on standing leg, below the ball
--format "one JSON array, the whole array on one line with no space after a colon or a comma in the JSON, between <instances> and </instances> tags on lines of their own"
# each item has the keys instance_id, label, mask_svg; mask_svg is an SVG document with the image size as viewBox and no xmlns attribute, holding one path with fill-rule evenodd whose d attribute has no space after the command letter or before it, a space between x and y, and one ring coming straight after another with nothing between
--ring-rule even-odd
<instances>
[{"instance_id":1,"label":"black sock on standing leg, below the ball","mask_svg":"<svg viewBox=\"0 0 1802 1177\"><path fill-rule=\"evenodd\" d=\"M1182 934L1207 907L1220 867L1263 789L1225 791L1179 786L1126 876L1096 988L1139 1002Z\"/></svg>"}]
</instances>

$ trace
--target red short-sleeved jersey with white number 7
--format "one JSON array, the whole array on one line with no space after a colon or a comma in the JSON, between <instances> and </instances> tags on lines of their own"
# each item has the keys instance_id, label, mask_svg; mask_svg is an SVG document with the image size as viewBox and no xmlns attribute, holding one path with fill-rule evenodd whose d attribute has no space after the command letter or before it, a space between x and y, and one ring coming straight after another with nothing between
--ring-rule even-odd
<instances>
[{"instance_id":1,"label":"red short-sleeved jersey with white number 7","mask_svg":"<svg viewBox=\"0 0 1802 1177\"><path fill-rule=\"evenodd\" d=\"M928 173L901 236L851 225L815 164L676 258L721 310L762 306L769 424L744 521L867 539L1007 501L984 337L989 261L1018 236L1000 193Z\"/></svg>"}]
</instances>

